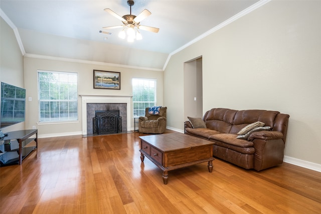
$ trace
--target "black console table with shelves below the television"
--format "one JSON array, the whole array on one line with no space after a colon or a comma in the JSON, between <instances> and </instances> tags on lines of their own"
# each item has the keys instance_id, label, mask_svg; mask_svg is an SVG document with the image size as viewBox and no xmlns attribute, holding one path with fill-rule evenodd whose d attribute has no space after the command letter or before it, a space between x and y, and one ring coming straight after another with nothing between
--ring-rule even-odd
<instances>
[{"instance_id":1,"label":"black console table with shelves below the television","mask_svg":"<svg viewBox=\"0 0 321 214\"><path fill-rule=\"evenodd\" d=\"M38 129L29 129L29 130L19 130L19 131L11 131L7 132L8 134L6 137L2 138L1 140L6 142L11 142L11 140L17 140L19 143L19 159L18 161L10 161L8 164L18 163L21 164L22 160L30 154L34 149L38 147ZM31 138L31 136L36 134L36 138ZM27 146L32 141L36 141L36 146ZM15 150L10 150L7 152L12 152ZM4 164L5 165L5 164Z\"/></svg>"}]
</instances>

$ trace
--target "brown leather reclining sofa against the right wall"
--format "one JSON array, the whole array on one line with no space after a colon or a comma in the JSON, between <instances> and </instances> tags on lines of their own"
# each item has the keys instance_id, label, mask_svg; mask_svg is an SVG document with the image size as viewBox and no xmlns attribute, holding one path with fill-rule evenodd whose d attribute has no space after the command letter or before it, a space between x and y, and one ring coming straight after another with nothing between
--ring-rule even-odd
<instances>
[{"instance_id":1,"label":"brown leather reclining sofa against the right wall","mask_svg":"<svg viewBox=\"0 0 321 214\"><path fill-rule=\"evenodd\" d=\"M288 114L278 111L213 108L203 116L206 128L193 128L185 121L185 133L215 142L215 157L260 171L283 162L288 119ZM252 132L247 140L237 139L242 128L257 121L271 129Z\"/></svg>"}]
</instances>

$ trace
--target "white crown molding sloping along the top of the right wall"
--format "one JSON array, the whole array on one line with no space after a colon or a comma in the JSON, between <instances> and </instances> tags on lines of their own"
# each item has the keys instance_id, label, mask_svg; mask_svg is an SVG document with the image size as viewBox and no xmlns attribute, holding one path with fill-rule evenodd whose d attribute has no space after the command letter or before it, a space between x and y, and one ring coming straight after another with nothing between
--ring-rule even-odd
<instances>
[{"instance_id":1,"label":"white crown molding sloping along the top of the right wall","mask_svg":"<svg viewBox=\"0 0 321 214\"><path fill-rule=\"evenodd\" d=\"M211 30L205 32L205 33L202 34L201 36L199 36L199 37L195 38L194 40L190 41L189 43L187 43L187 44L183 45L182 47L176 49L175 51L173 51L172 53L169 54L169 56L168 56L168 58L167 58L167 60L166 60L166 62L165 62L165 65L164 65L164 67L163 67L163 70L166 69L167 64L169 63L171 57L172 57L174 54L177 54L178 52L186 49L187 47L189 47L189 46L193 45L194 43L200 41L201 39L209 36L210 34L213 34L214 32L216 32L216 31L220 30L221 28L229 25L230 23L232 23L232 22L240 19L241 17L247 15L248 13L250 13L250 12L252 12L252 11L260 8L261 6L265 5L266 3L270 2L270 1L271 1L271 0L261 0L261 1L257 2L257 3L255 3L254 5L248 7L247 9L245 9L245 10L241 11L240 13L234 15L234 16L231 17L230 19L222 22L221 24L215 26L215 27L212 28Z\"/></svg>"}]
</instances>

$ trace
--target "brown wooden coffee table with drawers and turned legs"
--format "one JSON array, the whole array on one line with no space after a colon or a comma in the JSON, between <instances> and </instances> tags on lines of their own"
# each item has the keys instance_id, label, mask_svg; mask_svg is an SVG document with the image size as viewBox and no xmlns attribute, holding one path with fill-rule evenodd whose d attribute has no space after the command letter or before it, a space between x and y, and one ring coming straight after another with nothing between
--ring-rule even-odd
<instances>
[{"instance_id":1,"label":"brown wooden coffee table with drawers and turned legs","mask_svg":"<svg viewBox=\"0 0 321 214\"><path fill-rule=\"evenodd\" d=\"M140 136L140 160L146 156L163 170L164 184L168 183L169 171L208 161L213 170L213 144L188 134L171 133Z\"/></svg>"}]
</instances>

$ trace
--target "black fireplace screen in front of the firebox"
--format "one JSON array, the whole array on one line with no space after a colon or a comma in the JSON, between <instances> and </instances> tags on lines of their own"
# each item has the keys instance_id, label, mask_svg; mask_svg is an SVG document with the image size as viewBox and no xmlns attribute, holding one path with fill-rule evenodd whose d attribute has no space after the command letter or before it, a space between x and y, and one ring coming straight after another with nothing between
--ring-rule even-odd
<instances>
[{"instance_id":1,"label":"black fireplace screen in front of the firebox","mask_svg":"<svg viewBox=\"0 0 321 214\"><path fill-rule=\"evenodd\" d=\"M119 110L95 111L93 118L94 134L112 134L121 132Z\"/></svg>"}]
</instances>

